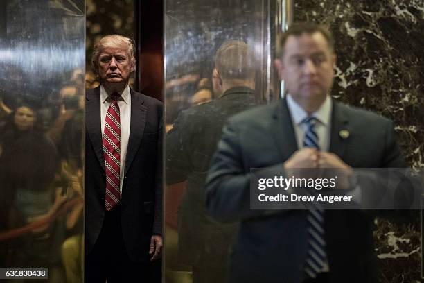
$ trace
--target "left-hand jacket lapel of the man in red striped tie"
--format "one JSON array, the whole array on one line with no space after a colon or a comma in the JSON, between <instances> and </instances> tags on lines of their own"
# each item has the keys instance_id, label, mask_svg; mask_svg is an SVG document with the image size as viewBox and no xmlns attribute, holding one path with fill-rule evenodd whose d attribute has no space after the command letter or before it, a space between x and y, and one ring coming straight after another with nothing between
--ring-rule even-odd
<instances>
[{"instance_id":1,"label":"left-hand jacket lapel of the man in red striped tie","mask_svg":"<svg viewBox=\"0 0 424 283\"><path fill-rule=\"evenodd\" d=\"M87 90L85 104L85 125L87 133L94 148L98 162L105 170L105 157L103 156L103 141L100 121L100 87ZM88 146L88 145L87 145Z\"/></svg>"}]
</instances>

